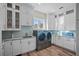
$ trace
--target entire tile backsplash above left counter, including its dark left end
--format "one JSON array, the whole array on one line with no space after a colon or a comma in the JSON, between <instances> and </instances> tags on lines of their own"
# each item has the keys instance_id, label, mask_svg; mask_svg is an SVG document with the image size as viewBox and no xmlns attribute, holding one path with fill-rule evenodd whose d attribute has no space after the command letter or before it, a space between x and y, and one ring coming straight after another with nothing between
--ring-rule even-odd
<instances>
[{"instance_id":1,"label":"entire tile backsplash above left counter, including its dark left end","mask_svg":"<svg viewBox=\"0 0 79 59\"><path fill-rule=\"evenodd\" d=\"M22 26L20 31L3 31L2 39L20 38L24 36L32 36L32 26Z\"/></svg>"}]
</instances>

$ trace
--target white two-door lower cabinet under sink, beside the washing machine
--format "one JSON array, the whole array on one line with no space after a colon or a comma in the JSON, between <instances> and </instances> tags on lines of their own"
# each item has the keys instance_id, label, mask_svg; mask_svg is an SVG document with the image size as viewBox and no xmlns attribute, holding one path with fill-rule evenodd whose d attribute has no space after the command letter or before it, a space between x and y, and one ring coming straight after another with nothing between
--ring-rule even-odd
<instances>
[{"instance_id":1,"label":"white two-door lower cabinet under sink, beside the washing machine","mask_svg":"<svg viewBox=\"0 0 79 59\"><path fill-rule=\"evenodd\" d=\"M36 38L26 38L21 40L22 53L30 52L36 49Z\"/></svg>"}]
</instances>

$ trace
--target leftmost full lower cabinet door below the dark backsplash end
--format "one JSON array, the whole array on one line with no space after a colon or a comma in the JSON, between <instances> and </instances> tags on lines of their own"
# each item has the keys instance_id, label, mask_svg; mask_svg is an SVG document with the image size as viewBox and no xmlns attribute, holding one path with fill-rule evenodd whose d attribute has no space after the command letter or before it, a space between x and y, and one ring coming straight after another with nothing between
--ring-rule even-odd
<instances>
[{"instance_id":1,"label":"leftmost full lower cabinet door below the dark backsplash end","mask_svg":"<svg viewBox=\"0 0 79 59\"><path fill-rule=\"evenodd\" d=\"M12 56L12 42L11 41L7 41L4 43L4 55Z\"/></svg>"}]
</instances>

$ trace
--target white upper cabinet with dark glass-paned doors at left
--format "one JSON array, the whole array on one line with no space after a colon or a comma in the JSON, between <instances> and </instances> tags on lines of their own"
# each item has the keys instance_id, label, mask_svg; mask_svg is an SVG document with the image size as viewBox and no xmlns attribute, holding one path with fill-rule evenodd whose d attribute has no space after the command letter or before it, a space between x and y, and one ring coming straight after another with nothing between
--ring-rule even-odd
<instances>
[{"instance_id":1,"label":"white upper cabinet with dark glass-paned doors at left","mask_svg":"<svg viewBox=\"0 0 79 59\"><path fill-rule=\"evenodd\" d=\"M20 4L5 3L1 4L1 19L3 30L20 29Z\"/></svg>"}]
</instances>

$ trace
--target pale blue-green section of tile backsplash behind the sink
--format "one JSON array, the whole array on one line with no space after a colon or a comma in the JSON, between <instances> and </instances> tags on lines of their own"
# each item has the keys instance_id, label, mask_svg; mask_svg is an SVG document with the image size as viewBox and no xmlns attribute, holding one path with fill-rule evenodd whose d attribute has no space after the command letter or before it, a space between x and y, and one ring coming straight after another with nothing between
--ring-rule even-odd
<instances>
[{"instance_id":1,"label":"pale blue-green section of tile backsplash behind the sink","mask_svg":"<svg viewBox=\"0 0 79 59\"><path fill-rule=\"evenodd\" d=\"M22 26L20 31L13 32L12 37L32 36L33 30L31 26Z\"/></svg>"}]
</instances>

